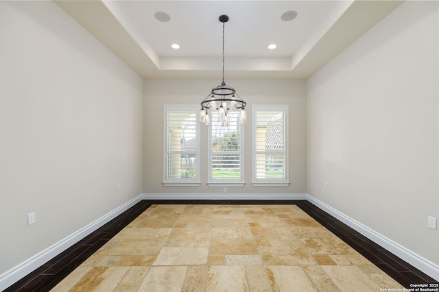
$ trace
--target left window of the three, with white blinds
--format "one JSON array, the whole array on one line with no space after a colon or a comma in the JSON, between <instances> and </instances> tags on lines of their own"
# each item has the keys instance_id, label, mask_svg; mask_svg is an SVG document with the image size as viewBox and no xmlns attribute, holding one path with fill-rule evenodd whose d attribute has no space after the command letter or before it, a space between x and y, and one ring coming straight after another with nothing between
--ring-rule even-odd
<instances>
[{"instance_id":1,"label":"left window of the three, with white blinds","mask_svg":"<svg viewBox=\"0 0 439 292\"><path fill-rule=\"evenodd\" d=\"M165 105L165 186L200 185L200 124L197 113L198 105Z\"/></svg>"}]
</instances>

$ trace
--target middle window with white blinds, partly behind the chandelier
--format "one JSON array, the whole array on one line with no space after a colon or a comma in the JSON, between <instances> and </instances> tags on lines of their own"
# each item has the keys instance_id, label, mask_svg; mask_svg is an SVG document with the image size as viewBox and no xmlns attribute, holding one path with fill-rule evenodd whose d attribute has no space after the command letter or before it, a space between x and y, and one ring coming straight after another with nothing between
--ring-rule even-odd
<instances>
[{"instance_id":1,"label":"middle window with white blinds, partly behind the chandelier","mask_svg":"<svg viewBox=\"0 0 439 292\"><path fill-rule=\"evenodd\" d=\"M239 111L228 111L229 127L218 122L218 111L211 112L209 126L210 187L244 186L244 128L239 126Z\"/></svg>"}]
</instances>

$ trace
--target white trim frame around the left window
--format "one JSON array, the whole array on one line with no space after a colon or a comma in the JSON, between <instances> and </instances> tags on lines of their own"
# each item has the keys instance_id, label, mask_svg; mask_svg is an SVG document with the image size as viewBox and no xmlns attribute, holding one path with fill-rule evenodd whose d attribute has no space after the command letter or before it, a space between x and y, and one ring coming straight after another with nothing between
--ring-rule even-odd
<instances>
[{"instance_id":1,"label":"white trim frame around the left window","mask_svg":"<svg viewBox=\"0 0 439 292\"><path fill-rule=\"evenodd\" d=\"M199 105L165 105L163 114L163 185L165 187L199 187L200 181L200 123L198 123ZM166 178L167 172L167 111L193 111L195 113L195 132L196 136L196 150L195 150L195 178Z\"/></svg>"}]
</instances>

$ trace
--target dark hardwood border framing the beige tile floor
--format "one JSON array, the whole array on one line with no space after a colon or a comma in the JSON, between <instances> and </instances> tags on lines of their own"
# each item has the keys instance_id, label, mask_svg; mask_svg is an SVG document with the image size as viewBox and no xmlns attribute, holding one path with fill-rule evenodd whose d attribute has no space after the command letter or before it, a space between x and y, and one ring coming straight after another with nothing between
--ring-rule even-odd
<instances>
[{"instance_id":1,"label":"dark hardwood border framing the beige tile floor","mask_svg":"<svg viewBox=\"0 0 439 292\"><path fill-rule=\"evenodd\" d=\"M12 284L4 292L49 291L152 204L296 204L407 289L411 288L410 284L438 283L307 200L142 200Z\"/></svg>"}]
</instances>

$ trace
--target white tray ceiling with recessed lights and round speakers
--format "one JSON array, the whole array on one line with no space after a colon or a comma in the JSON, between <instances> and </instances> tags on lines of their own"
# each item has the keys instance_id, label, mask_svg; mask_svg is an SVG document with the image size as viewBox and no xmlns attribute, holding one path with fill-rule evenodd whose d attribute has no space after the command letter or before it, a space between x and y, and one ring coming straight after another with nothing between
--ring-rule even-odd
<instances>
[{"instance_id":1,"label":"white tray ceiling with recessed lights and round speakers","mask_svg":"<svg viewBox=\"0 0 439 292\"><path fill-rule=\"evenodd\" d=\"M220 77L226 14L226 77L307 79L402 1L55 2L145 78Z\"/></svg>"}]
</instances>

